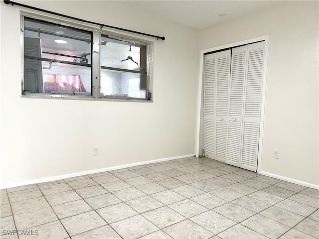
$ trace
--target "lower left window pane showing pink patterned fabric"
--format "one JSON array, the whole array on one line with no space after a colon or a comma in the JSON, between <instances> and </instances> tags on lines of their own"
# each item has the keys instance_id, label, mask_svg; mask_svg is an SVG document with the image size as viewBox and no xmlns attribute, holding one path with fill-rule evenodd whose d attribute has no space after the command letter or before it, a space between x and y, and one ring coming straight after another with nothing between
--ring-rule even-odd
<instances>
[{"instance_id":1,"label":"lower left window pane showing pink patterned fabric","mask_svg":"<svg viewBox=\"0 0 319 239\"><path fill-rule=\"evenodd\" d=\"M31 93L91 95L91 68L25 59L24 89Z\"/></svg>"}]
</instances>

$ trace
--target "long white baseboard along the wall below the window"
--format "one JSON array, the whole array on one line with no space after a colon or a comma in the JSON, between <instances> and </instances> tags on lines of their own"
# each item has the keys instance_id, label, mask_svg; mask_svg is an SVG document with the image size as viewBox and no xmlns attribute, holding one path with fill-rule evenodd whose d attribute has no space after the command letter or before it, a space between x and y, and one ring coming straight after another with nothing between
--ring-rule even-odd
<instances>
[{"instance_id":1,"label":"long white baseboard along the wall below the window","mask_svg":"<svg viewBox=\"0 0 319 239\"><path fill-rule=\"evenodd\" d=\"M163 161L168 161L168 160L173 160L173 159L178 159L178 158L187 158L187 157L192 157L194 155L195 154L187 154L187 155L181 155L181 156L175 156L175 157L169 157L169 158L161 158L161 159L155 159L155 160L144 161L144 162L130 163L130 164L125 164L125 165L120 165L120 166L113 166L113 167L108 167L108 168L100 168L100 169L94 169L94 170L89 170L89 171L58 175L58 176L53 176L53 177L39 178L39 179L22 181L22 182L17 182L17 183L9 183L9 184L0 185L0 189L13 188L13 187L35 184L35 183L50 182L50 181L55 181L55 180L60 180L60 179L65 179L65 178L72 178L72 177L82 176L82 175L87 175L87 174L106 172L106 171L111 171L111 170L116 170L116 169L139 166L139 165L143 165L143 164L163 162Z\"/></svg>"}]
</instances>

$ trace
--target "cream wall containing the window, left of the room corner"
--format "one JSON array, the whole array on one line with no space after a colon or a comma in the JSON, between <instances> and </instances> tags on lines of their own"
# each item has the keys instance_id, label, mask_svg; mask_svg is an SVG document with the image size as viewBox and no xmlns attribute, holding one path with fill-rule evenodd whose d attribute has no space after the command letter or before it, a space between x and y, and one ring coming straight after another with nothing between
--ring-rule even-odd
<instances>
[{"instance_id":1,"label":"cream wall containing the window, left of the room corner","mask_svg":"<svg viewBox=\"0 0 319 239\"><path fill-rule=\"evenodd\" d=\"M23 3L166 40L145 38L155 42L154 103L25 99L20 97L19 8L1 1L1 187L194 154L196 30L134 14L114 1ZM93 157L93 146L100 146L99 156Z\"/></svg>"}]
</instances>

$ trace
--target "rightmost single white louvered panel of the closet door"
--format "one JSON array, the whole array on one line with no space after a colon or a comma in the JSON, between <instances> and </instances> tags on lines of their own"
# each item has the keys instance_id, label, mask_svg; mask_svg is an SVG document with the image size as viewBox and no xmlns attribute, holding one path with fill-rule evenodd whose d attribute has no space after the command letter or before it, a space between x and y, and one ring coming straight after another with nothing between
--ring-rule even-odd
<instances>
[{"instance_id":1,"label":"rightmost single white louvered panel of the closet door","mask_svg":"<svg viewBox=\"0 0 319 239\"><path fill-rule=\"evenodd\" d=\"M256 171L258 158L264 42L249 44L245 79L240 167Z\"/></svg>"}]
</instances>

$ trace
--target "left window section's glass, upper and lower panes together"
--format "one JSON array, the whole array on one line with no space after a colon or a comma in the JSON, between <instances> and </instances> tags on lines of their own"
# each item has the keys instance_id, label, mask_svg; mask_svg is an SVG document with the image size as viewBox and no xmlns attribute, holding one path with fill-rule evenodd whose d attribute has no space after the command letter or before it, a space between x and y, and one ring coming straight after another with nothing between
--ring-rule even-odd
<instances>
[{"instance_id":1,"label":"left window section's glass, upper and lower panes together","mask_svg":"<svg viewBox=\"0 0 319 239\"><path fill-rule=\"evenodd\" d=\"M91 42L92 33L24 18L24 91L91 95Z\"/></svg>"}]
</instances>

